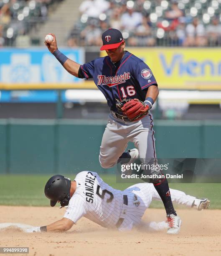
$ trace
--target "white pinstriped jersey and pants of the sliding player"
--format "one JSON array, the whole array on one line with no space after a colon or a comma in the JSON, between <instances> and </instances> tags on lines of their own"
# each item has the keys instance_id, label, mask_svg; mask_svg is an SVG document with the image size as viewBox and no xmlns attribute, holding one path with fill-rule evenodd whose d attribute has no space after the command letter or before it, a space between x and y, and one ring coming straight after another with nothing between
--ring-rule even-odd
<instances>
[{"instance_id":1,"label":"white pinstriped jersey and pants of the sliding player","mask_svg":"<svg viewBox=\"0 0 221 256\"><path fill-rule=\"evenodd\" d=\"M87 171L77 174L74 180L77 188L64 214L64 218L74 223L84 216L103 227L114 228L119 218L124 218L119 230L130 230L140 224L152 199L161 201L152 183L135 184L121 191L105 183L96 172ZM170 194L173 201L187 206L195 200L175 189L170 189ZM123 195L127 195L127 205L124 205ZM133 203L134 195L140 201L138 207Z\"/></svg>"}]
</instances>

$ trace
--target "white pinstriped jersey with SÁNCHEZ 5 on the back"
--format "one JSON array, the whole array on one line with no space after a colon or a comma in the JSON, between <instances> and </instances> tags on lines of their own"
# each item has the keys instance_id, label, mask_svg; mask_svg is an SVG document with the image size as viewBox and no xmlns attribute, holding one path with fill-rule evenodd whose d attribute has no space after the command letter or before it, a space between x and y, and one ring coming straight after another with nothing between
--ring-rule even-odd
<instances>
[{"instance_id":1,"label":"white pinstriped jersey with S\u00c1NCHEZ 5 on the back","mask_svg":"<svg viewBox=\"0 0 221 256\"><path fill-rule=\"evenodd\" d=\"M104 227L113 227L119 220L122 211L122 191L110 187L101 179L101 177L99 177L96 172L91 173L94 175L94 177L96 176L93 186L93 203L86 201L85 180L88 172L80 172L75 178L77 184L80 185L77 187L74 195L69 201L69 207L66 210L64 218L69 218L76 223L80 217L84 216ZM106 193L103 199L96 194L98 185L100 186L100 194L102 194L102 190L104 189L107 189L113 194L114 197L111 202L107 202L107 200L110 198L109 194Z\"/></svg>"}]
</instances>

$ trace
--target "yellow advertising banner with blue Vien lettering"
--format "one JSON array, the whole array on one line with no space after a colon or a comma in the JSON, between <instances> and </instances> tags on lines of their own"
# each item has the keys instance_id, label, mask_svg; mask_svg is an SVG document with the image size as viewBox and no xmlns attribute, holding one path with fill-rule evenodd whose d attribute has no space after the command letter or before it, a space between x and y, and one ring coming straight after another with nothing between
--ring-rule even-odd
<instances>
[{"instance_id":1,"label":"yellow advertising banner with blue Vien lettering","mask_svg":"<svg viewBox=\"0 0 221 256\"><path fill-rule=\"evenodd\" d=\"M220 48L126 48L142 59L160 89L221 90ZM106 52L102 52L105 56Z\"/></svg>"}]
</instances>

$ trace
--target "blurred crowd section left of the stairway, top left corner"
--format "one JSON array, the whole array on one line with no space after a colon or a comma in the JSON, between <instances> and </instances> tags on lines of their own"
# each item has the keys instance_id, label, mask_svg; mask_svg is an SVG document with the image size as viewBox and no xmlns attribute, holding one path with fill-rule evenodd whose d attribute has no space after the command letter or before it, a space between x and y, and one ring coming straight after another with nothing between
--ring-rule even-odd
<instances>
[{"instance_id":1,"label":"blurred crowd section left of the stairway, top left corner","mask_svg":"<svg viewBox=\"0 0 221 256\"><path fill-rule=\"evenodd\" d=\"M0 47L30 46L28 32L46 21L56 2L61 0L0 0Z\"/></svg>"}]
</instances>

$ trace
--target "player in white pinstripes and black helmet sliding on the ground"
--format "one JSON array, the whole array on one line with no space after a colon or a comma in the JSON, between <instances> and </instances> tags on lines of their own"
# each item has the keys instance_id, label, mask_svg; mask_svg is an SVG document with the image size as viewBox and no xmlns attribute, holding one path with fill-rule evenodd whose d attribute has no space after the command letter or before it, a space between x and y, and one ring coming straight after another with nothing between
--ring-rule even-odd
<instances>
[{"instance_id":1,"label":"player in white pinstripes and black helmet sliding on the ground","mask_svg":"<svg viewBox=\"0 0 221 256\"><path fill-rule=\"evenodd\" d=\"M144 223L141 218L152 200L161 200L154 185L140 183L128 187L124 191L117 190L105 183L96 172L80 172L74 181L62 175L54 175L45 186L45 195L50 205L60 202L67 207L64 217L50 225L30 227L25 231L65 231L69 230L81 217L85 217L105 228L117 228L125 231L132 228L145 230L173 230L172 223ZM210 201L197 199L184 192L170 189L174 202L197 210L206 209Z\"/></svg>"}]
</instances>

